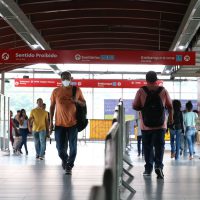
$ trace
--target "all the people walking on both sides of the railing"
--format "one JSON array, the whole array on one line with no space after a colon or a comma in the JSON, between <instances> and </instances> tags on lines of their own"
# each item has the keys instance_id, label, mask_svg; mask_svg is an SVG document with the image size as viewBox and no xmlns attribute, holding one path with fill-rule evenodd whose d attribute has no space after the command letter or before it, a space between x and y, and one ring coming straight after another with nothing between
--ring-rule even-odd
<instances>
[{"instance_id":1,"label":"all the people walking on both sides of the railing","mask_svg":"<svg viewBox=\"0 0 200 200\"><path fill-rule=\"evenodd\" d=\"M14 153L22 154L24 146L25 154L28 155L27 136L32 134L36 159L43 160L46 138L54 129L58 155L67 174L72 173L77 154L76 105L86 105L80 88L76 88L76 95L73 96L74 86L70 84L71 80L69 71L61 74L62 87L55 88L51 94L50 113L45 110L46 104L41 98L37 99L37 107L29 117L25 109L18 110L14 117L10 111L10 140ZM155 168L158 178L164 178L166 130L170 131L171 158L178 160L183 152L186 155L189 151L189 159L192 160L195 138L200 139L199 134L196 134L200 130L200 120L191 101L186 103L186 109L182 111L181 102L171 100L168 91L157 85L157 74L154 71L146 74L146 81L147 85L137 91L132 105L138 111L135 124L139 127L138 156L142 155L145 159L144 176L151 175Z\"/></svg>"}]
</instances>

